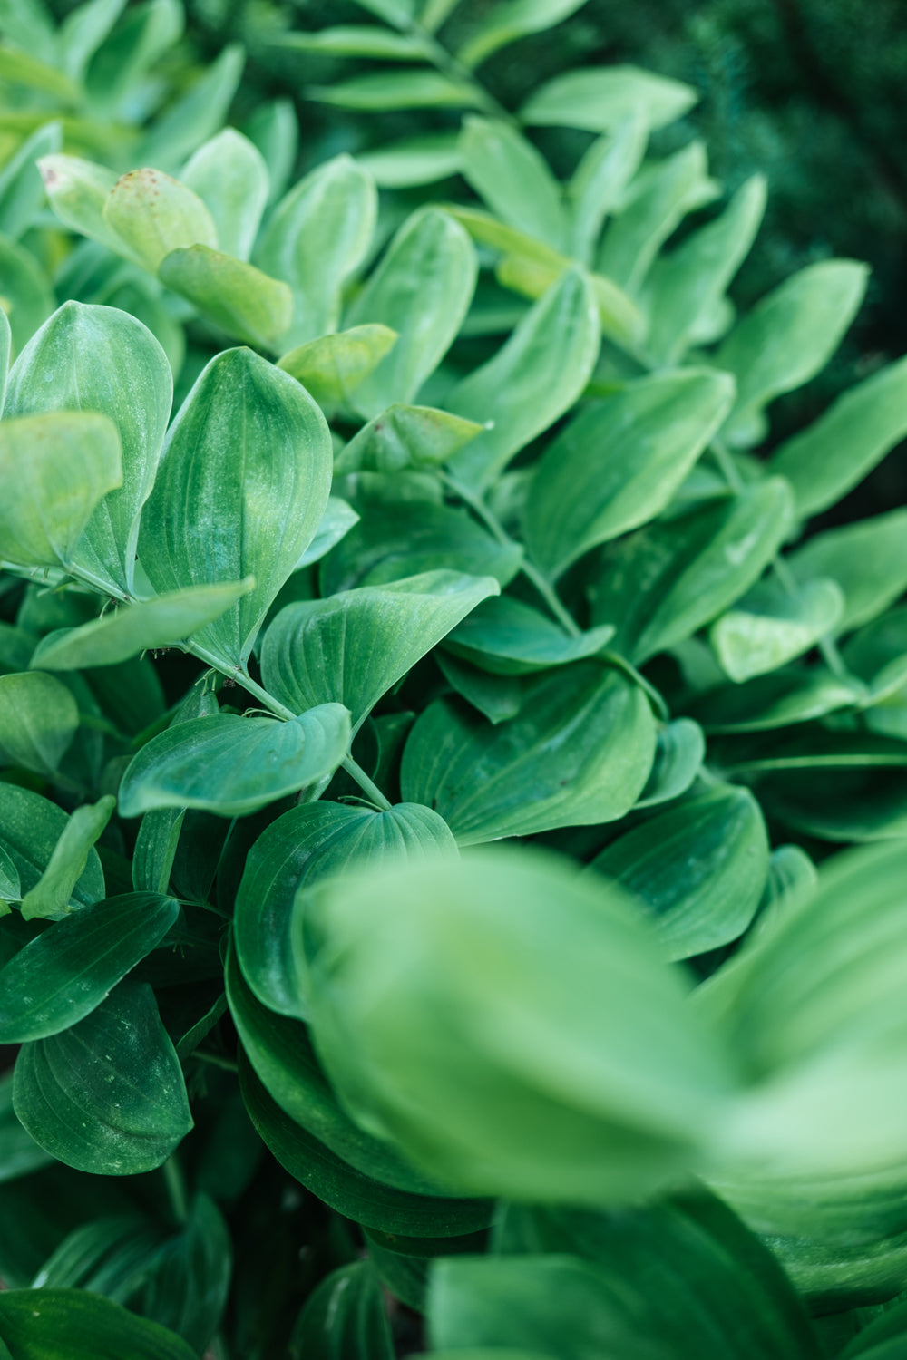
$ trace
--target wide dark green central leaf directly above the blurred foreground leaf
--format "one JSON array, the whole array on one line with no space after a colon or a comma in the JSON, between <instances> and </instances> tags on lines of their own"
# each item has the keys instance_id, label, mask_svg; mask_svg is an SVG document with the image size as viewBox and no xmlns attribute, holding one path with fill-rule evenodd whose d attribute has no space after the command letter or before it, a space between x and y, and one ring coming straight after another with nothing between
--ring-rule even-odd
<instances>
[{"instance_id":1,"label":"wide dark green central leaf directly above the blurred foreground leaf","mask_svg":"<svg viewBox=\"0 0 907 1360\"><path fill-rule=\"evenodd\" d=\"M649 700L597 661L526 681L519 713L491 726L438 699L404 748L401 790L434 808L460 845L623 817L655 749Z\"/></svg>"}]
</instances>

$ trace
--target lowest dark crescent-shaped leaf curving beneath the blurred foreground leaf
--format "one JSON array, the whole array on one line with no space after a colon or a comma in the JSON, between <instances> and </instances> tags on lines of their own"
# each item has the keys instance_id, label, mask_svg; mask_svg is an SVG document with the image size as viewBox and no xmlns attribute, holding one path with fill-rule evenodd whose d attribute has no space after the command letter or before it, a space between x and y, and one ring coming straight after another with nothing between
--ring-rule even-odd
<instances>
[{"instance_id":1,"label":"lowest dark crescent-shaped leaf curving beneath the blurred foreground leaf","mask_svg":"<svg viewBox=\"0 0 907 1360\"><path fill-rule=\"evenodd\" d=\"M243 1053L239 1084L249 1118L284 1171L354 1223L413 1238L456 1238L488 1225L492 1206L487 1201L409 1194L356 1171L284 1114ZM349 1125L356 1129L351 1121ZM356 1133L363 1137L359 1129Z\"/></svg>"}]
</instances>

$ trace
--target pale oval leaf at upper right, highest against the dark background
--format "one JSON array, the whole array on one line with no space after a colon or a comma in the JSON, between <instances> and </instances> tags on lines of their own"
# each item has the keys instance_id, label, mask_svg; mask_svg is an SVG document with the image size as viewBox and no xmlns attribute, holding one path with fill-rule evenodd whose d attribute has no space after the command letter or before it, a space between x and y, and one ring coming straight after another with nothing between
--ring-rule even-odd
<instances>
[{"instance_id":1,"label":"pale oval leaf at upper right, highest against the dark background","mask_svg":"<svg viewBox=\"0 0 907 1360\"><path fill-rule=\"evenodd\" d=\"M737 378L725 438L736 447L764 437L763 407L808 382L838 348L866 291L869 269L853 260L806 265L748 311L715 364Z\"/></svg>"}]
</instances>

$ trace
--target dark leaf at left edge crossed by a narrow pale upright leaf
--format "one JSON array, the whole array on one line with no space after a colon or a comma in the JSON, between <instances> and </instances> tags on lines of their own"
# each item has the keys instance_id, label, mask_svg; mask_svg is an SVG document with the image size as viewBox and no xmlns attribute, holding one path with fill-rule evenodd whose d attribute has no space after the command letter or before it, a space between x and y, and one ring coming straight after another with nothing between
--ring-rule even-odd
<instances>
[{"instance_id":1,"label":"dark leaf at left edge crossed by a narrow pale upright leaf","mask_svg":"<svg viewBox=\"0 0 907 1360\"><path fill-rule=\"evenodd\" d=\"M0 782L0 847L12 860L23 894L41 880L69 820L63 808L49 798L15 783ZM68 904L78 911L103 896L103 870L97 850L90 849L84 872L76 880Z\"/></svg>"}]
</instances>

